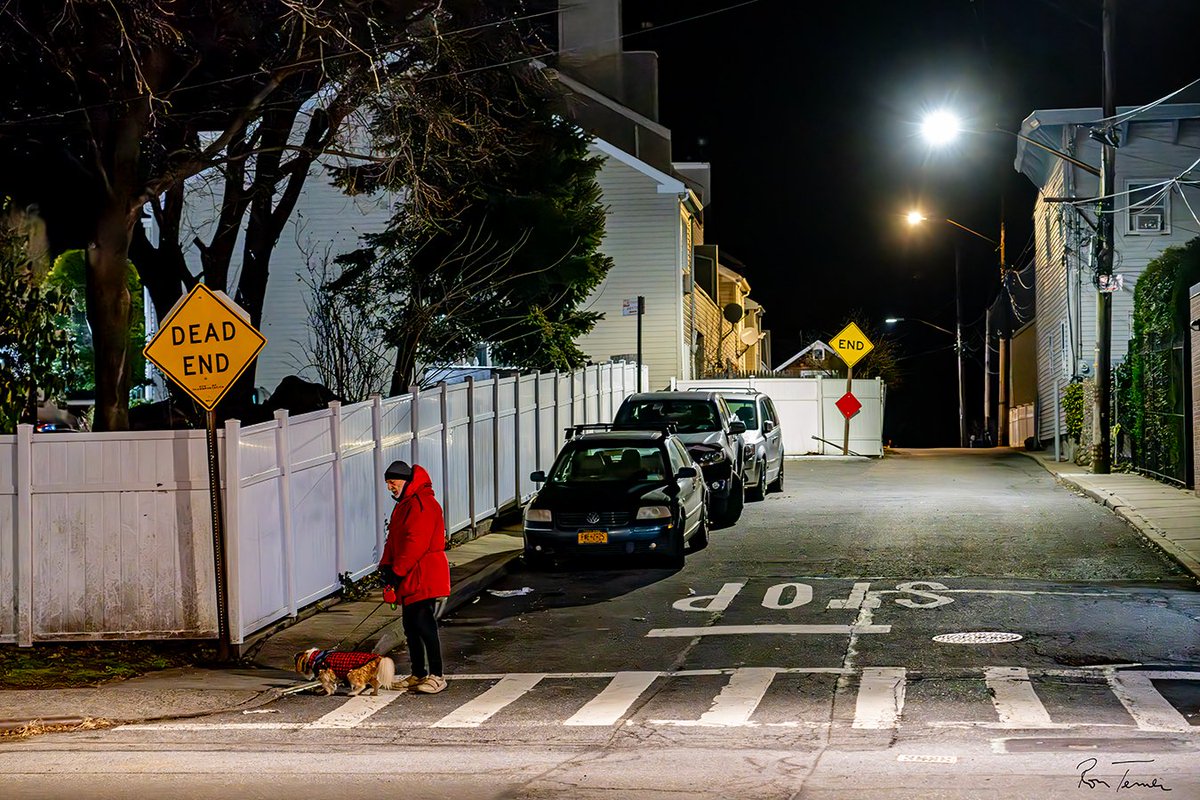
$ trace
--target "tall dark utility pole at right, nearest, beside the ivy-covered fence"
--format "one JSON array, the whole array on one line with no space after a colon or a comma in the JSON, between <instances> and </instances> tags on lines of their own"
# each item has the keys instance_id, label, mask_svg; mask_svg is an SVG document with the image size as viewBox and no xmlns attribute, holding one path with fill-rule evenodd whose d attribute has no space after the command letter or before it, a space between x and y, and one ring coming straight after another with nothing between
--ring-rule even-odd
<instances>
[{"instance_id":1,"label":"tall dark utility pole at right, nearest, beside the ivy-covered fence","mask_svg":"<svg viewBox=\"0 0 1200 800\"><path fill-rule=\"evenodd\" d=\"M1103 19L1103 60L1104 60L1104 86L1103 86L1103 112L1106 120L1116 116L1116 100L1114 98L1112 76L1112 26L1116 14L1116 0L1104 0ZM1105 128L1102 137L1100 150L1100 213L1099 213L1099 237L1100 248L1097 259L1097 295L1096 295L1096 403L1092 414L1092 471L1097 475L1108 475L1111 453L1110 421L1111 410L1111 386L1112 386L1112 293L1109 291L1112 279L1112 251L1116 247L1114 231L1116 225L1112 218L1112 192L1116 190L1116 128ZM1057 414L1057 409L1055 410Z\"/></svg>"}]
</instances>

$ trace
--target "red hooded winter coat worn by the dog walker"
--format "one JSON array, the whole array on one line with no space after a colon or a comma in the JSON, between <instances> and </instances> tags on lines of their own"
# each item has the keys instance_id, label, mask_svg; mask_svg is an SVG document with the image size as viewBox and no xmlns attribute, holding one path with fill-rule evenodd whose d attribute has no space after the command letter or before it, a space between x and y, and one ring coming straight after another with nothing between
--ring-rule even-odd
<instances>
[{"instance_id":1,"label":"red hooded winter coat worn by the dog walker","mask_svg":"<svg viewBox=\"0 0 1200 800\"><path fill-rule=\"evenodd\" d=\"M450 595L450 563L446 560L445 519L433 497L433 481L422 467L413 465L413 479L388 521L388 543L379 570L391 571L400 585L402 603Z\"/></svg>"}]
</instances>

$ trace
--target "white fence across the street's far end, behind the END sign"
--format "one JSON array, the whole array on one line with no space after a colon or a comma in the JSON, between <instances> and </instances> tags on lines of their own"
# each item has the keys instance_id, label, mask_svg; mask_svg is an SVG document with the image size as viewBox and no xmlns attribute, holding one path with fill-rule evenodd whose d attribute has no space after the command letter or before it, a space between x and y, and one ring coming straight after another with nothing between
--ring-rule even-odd
<instances>
[{"instance_id":1,"label":"white fence across the street's far end, behind the END sign","mask_svg":"<svg viewBox=\"0 0 1200 800\"><path fill-rule=\"evenodd\" d=\"M845 378L719 378L672 380L671 385L680 390L757 389L779 411L786 455L841 455L846 417L835 403L846 393ZM850 421L850 450L860 456L882 456L887 386L878 378L854 380L853 392L863 408Z\"/></svg>"}]
</instances>

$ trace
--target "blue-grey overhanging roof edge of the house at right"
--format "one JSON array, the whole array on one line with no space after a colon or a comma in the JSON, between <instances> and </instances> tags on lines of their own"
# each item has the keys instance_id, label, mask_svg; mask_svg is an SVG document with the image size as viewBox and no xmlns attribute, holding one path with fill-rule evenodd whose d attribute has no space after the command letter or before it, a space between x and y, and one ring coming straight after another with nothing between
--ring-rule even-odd
<instances>
[{"instance_id":1,"label":"blue-grey overhanging roof edge of the house at right","mask_svg":"<svg viewBox=\"0 0 1200 800\"><path fill-rule=\"evenodd\" d=\"M1141 110L1139 110L1141 109ZM1136 114L1133 114L1136 112ZM1124 130L1122 140L1128 139L1128 126L1138 122L1168 122L1200 118L1200 103L1162 103L1152 108L1121 106L1117 108L1118 125ZM1037 110L1021 122L1020 134L1054 150L1062 150L1064 128L1099 127L1104 112L1099 108L1051 108ZM1120 158L1120 150L1117 151ZM1078 157L1079 154L1070 154ZM1013 168L1026 175L1033 185L1043 188L1061 160L1037 145L1018 139L1016 158Z\"/></svg>"}]
</instances>

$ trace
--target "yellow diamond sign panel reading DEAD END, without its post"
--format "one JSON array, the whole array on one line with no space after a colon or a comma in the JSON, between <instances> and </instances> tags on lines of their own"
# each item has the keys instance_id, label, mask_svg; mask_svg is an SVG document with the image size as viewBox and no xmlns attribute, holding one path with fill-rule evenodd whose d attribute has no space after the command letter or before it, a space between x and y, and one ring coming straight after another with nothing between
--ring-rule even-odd
<instances>
[{"instance_id":1,"label":"yellow diamond sign panel reading DEAD END, without its post","mask_svg":"<svg viewBox=\"0 0 1200 800\"><path fill-rule=\"evenodd\" d=\"M198 283L142 353L211 411L266 344L244 314L223 294Z\"/></svg>"}]
</instances>

